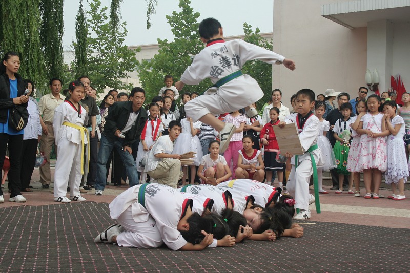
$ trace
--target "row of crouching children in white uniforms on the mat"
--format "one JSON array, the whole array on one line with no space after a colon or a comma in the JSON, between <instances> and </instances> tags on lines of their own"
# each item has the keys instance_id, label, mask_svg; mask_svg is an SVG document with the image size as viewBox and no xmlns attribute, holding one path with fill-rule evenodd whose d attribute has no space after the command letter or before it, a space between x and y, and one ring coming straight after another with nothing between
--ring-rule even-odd
<instances>
[{"instance_id":1,"label":"row of crouching children in white uniforms on the mat","mask_svg":"<svg viewBox=\"0 0 410 273\"><path fill-rule=\"evenodd\" d=\"M136 185L111 202L110 216L118 224L94 241L138 248L165 243L172 250L201 250L243 240L299 238L303 228L292 222L295 200L280 191L249 179L178 190L162 184Z\"/></svg>"}]
</instances>

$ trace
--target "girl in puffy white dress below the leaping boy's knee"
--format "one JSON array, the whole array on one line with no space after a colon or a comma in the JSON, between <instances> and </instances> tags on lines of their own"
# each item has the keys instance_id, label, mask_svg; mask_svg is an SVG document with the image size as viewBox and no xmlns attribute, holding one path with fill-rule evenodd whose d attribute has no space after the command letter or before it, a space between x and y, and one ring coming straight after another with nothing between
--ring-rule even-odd
<instances>
[{"instance_id":1,"label":"girl in puffy white dress below the leaping boy's knee","mask_svg":"<svg viewBox=\"0 0 410 273\"><path fill-rule=\"evenodd\" d=\"M193 158L193 164L190 166L191 168L191 180L190 184L193 184L195 181L195 166L199 166L199 163L202 159L202 146L201 142L199 141L198 130L201 128L202 122L192 122L192 118L187 117L181 119L182 130L181 134L178 136L175 142L174 150L172 154L182 155L188 152L194 152L195 157ZM188 166L182 166L182 184L185 185L187 180L187 171Z\"/></svg>"}]
</instances>

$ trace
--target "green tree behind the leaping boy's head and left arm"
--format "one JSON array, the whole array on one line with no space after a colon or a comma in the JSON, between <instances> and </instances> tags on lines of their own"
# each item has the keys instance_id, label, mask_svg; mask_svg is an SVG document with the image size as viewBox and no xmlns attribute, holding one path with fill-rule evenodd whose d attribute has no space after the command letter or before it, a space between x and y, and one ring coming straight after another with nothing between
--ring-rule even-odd
<instances>
[{"instance_id":1,"label":"green tree behind the leaping boy's head and left arm","mask_svg":"<svg viewBox=\"0 0 410 273\"><path fill-rule=\"evenodd\" d=\"M199 12L194 12L190 7L190 0L180 0L179 7L182 11L173 11L167 15L168 24L174 34L174 41L157 39L159 44L158 54L151 60L138 62L137 72L141 86L147 91L147 101L156 96L164 86L163 77L167 74L174 76L174 81L191 64L193 56L198 54L204 45L197 34L197 19ZM203 92L211 85L210 80L204 80L198 86L190 86L183 91Z\"/></svg>"}]
</instances>

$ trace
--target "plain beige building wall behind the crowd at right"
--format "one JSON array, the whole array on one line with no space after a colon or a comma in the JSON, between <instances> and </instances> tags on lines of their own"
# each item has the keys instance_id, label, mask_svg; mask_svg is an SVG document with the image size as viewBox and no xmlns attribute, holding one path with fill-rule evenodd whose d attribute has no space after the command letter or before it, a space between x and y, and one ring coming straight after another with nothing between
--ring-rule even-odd
<instances>
[{"instance_id":1,"label":"plain beige building wall behind the crowd at right","mask_svg":"<svg viewBox=\"0 0 410 273\"><path fill-rule=\"evenodd\" d=\"M366 86L367 28L348 29L321 16L321 5L337 0L274 0L273 51L293 59L296 70L274 66L272 88L282 102L303 88L328 88L356 96ZM291 107L290 107L291 108Z\"/></svg>"}]
</instances>

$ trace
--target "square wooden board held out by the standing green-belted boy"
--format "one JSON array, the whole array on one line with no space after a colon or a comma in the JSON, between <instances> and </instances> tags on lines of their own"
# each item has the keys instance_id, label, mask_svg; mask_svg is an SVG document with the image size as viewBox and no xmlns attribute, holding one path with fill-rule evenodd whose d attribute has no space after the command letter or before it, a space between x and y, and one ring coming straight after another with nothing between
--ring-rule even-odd
<instances>
[{"instance_id":1,"label":"square wooden board held out by the standing green-belted boy","mask_svg":"<svg viewBox=\"0 0 410 273\"><path fill-rule=\"evenodd\" d=\"M292 155L304 154L295 123L286 124L283 128L274 125L273 131L275 132L281 155L284 155L285 153L290 153Z\"/></svg>"}]
</instances>

